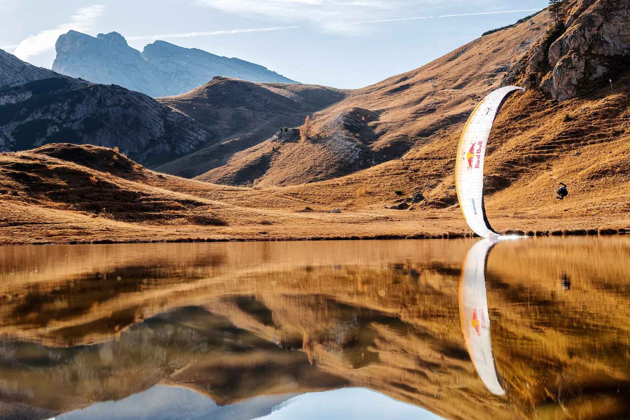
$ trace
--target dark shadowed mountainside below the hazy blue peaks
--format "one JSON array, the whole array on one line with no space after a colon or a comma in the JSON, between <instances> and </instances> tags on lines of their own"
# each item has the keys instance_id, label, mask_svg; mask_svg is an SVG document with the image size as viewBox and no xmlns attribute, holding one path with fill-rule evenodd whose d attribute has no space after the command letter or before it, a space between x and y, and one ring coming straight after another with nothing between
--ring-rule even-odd
<instances>
[{"instance_id":1,"label":"dark shadowed mountainside below the hazy blue peaks","mask_svg":"<svg viewBox=\"0 0 630 420\"><path fill-rule=\"evenodd\" d=\"M141 164L193 177L345 96L325 86L215 76L189 93L154 99L0 50L0 152L53 142L118 147Z\"/></svg>"}]
</instances>

